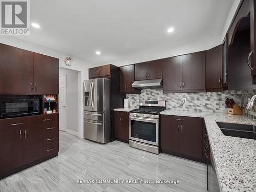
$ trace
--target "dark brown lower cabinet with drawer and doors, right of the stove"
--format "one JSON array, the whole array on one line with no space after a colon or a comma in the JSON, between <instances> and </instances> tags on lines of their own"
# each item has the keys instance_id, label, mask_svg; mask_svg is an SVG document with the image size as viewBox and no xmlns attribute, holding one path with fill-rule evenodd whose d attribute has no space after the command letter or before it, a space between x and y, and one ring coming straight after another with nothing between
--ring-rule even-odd
<instances>
[{"instance_id":1,"label":"dark brown lower cabinet with drawer and doors, right of the stove","mask_svg":"<svg viewBox=\"0 0 256 192\"><path fill-rule=\"evenodd\" d=\"M203 162L203 119L161 115L161 152Z\"/></svg>"}]
</instances>

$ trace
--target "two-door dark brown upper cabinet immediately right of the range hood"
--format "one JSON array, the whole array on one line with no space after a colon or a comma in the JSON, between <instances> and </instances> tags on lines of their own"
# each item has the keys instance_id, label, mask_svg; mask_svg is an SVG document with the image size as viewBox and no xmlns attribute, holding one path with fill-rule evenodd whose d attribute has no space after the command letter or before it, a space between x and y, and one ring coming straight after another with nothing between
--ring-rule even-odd
<instances>
[{"instance_id":1,"label":"two-door dark brown upper cabinet immediately right of the range hood","mask_svg":"<svg viewBox=\"0 0 256 192\"><path fill-rule=\"evenodd\" d=\"M205 92L205 51L163 59L163 92Z\"/></svg>"}]
</instances>

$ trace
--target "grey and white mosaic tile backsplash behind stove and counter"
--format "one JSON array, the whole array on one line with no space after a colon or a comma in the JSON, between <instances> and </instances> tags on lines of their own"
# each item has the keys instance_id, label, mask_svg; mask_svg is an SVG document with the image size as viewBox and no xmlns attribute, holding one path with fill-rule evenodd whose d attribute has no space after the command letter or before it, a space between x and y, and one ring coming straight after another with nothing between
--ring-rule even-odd
<instances>
[{"instance_id":1,"label":"grey and white mosaic tile backsplash behind stove and counter","mask_svg":"<svg viewBox=\"0 0 256 192\"><path fill-rule=\"evenodd\" d=\"M174 110L227 113L226 98L233 98L234 102L245 109L247 97L252 97L254 94L256 94L256 90L167 94L163 93L163 90L141 90L141 94L126 94L126 98L129 98L131 108L138 108L140 99L164 99L166 100L166 108L174 108ZM186 98L184 105L176 108L182 104L183 98ZM244 111L244 113L253 118L256 116L255 106L251 111Z\"/></svg>"}]
</instances>

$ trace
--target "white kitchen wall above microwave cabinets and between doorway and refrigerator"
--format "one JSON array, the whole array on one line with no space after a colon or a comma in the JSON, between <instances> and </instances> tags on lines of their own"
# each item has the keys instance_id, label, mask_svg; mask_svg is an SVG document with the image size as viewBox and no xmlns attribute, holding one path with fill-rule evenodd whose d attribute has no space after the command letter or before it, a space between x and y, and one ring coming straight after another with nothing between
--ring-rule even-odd
<instances>
[{"instance_id":1,"label":"white kitchen wall above microwave cabinets and between doorway and refrigerator","mask_svg":"<svg viewBox=\"0 0 256 192\"><path fill-rule=\"evenodd\" d=\"M79 73L78 73L78 83L79 83L79 89L78 89L78 93L79 93L79 98L78 98L78 110L79 110L78 136L80 138L83 138L83 85L82 85L82 82L83 82L83 80L86 80L89 78L88 77L88 69L93 66L93 63L89 63L85 60L73 57L74 60L73 60L72 66L71 67L65 66L65 63L64 63L65 57L66 56L72 57L72 55L61 53L61 52L52 50L50 48L42 47L40 45L31 44L30 42L26 42L24 40L21 40L19 38L15 38L15 37L0 36L0 43L58 58L59 59L59 67L79 71Z\"/></svg>"}]
</instances>

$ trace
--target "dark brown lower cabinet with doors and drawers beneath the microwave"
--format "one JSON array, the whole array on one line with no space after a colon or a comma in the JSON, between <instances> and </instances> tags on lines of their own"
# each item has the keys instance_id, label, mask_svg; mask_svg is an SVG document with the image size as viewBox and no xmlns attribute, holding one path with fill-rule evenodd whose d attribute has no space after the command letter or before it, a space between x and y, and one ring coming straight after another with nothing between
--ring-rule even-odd
<instances>
[{"instance_id":1,"label":"dark brown lower cabinet with doors and drawers beneath the microwave","mask_svg":"<svg viewBox=\"0 0 256 192\"><path fill-rule=\"evenodd\" d=\"M58 114L0 119L0 179L57 156Z\"/></svg>"}]
</instances>

